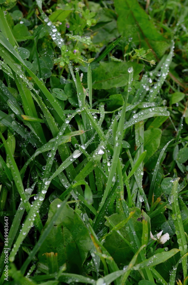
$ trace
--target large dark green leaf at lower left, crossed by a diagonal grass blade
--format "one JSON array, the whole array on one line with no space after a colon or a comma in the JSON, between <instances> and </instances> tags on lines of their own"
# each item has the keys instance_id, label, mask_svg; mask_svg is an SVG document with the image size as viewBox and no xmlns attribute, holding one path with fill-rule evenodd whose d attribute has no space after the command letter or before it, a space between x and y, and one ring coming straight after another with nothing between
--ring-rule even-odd
<instances>
[{"instance_id":1,"label":"large dark green leaf at lower left, crossed by a diagonal grass blade","mask_svg":"<svg viewBox=\"0 0 188 285\"><path fill-rule=\"evenodd\" d=\"M45 228L49 225L60 203L62 201L59 199L51 203ZM66 205L46 237L45 244L43 243L40 247L38 257L40 262L45 262L43 255L45 252L57 252L59 266L66 262L68 270L75 272L76 268L81 270L90 249L91 239L87 227L80 216Z\"/></svg>"}]
</instances>

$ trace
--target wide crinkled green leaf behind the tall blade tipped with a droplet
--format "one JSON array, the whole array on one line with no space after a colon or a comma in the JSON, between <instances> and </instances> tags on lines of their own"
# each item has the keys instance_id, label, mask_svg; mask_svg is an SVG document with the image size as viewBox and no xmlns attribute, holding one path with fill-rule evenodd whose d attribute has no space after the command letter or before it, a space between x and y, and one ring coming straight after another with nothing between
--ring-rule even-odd
<instances>
[{"instance_id":1,"label":"wide crinkled green leaf behind the tall blade tipped with a droplet","mask_svg":"<svg viewBox=\"0 0 188 285\"><path fill-rule=\"evenodd\" d=\"M94 89L109 89L112 87L121 87L128 84L128 68L133 67L135 78L143 69L142 64L135 62L100 62L99 67L92 74L92 80L95 81Z\"/></svg>"}]
</instances>

